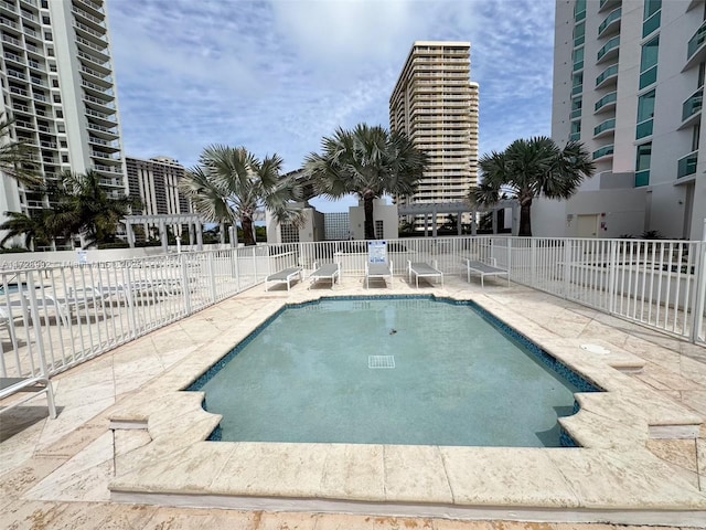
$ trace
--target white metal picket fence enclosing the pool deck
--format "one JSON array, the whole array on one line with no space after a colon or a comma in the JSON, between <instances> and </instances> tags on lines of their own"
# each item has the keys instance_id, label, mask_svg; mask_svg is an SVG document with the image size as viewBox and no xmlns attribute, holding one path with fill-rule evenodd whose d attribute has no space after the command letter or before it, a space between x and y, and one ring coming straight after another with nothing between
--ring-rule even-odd
<instances>
[{"instance_id":1,"label":"white metal picket fence enclosing the pool deck","mask_svg":"<svg viewBox=\"0 0 706 530\"><path fill-rule=\"evenodd\" d=\"M388 242L407 261L461 274L461 258L494 262L512 282L694 342L706 343L706 243L469 236ZM78 265L0 269L0 377L74 367L265 280L314 263L363 276L367 242L229 248ZM26 265L23 263L22 265ZM489 288L489 287L486 287Z\"/></svg>"}]
</instances>

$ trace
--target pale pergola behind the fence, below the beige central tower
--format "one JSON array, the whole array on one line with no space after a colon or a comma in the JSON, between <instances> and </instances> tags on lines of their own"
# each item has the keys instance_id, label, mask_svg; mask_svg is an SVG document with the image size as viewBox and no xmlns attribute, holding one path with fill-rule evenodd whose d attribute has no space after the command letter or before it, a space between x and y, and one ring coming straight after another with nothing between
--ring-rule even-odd
<instances>
[{"instance_id":1,"label":"pale pergola behind the fence, below the beige central tower","mask_svg":"<svg viewBox=\"0 0 706 530\"><path fill-rule=\"evenodd\" d=\"M424 215L424 233L425 236L429 233L429 215L431 215L431 236L437 236L437 215L440 213L454 213L457 214L456 226L458 234L461 235L461 214L471 213L471 234L475 235L478 226L475 218L479 212L496 212L499 210L505 210L510 208L512 210L512 235L518 233L518 215L517 210L520 204L517 201L504 199L498 201L495 204L489 206L481 206L478 204L471 205L467 202L436 202L436 203L414 203L397 206L398 215ZM498 233L498 215L493 215L493 234Z\"/></svg>"}]
</instances>

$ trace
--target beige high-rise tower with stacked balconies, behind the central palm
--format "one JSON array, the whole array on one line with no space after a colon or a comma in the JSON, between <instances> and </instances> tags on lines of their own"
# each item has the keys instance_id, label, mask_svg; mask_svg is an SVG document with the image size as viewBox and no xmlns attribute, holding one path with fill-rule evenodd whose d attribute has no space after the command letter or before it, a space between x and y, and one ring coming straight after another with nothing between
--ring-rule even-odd
<instances>
[{"instance_id":1,"label":"beige high-rise tower with stacked balconies, behind the central palm","mask_svg":"<svg viewBox=\"0 0 706 530\"><path fill-rule=\"evenodd\" d=\"M429 156L417 192L397 203L463 201L478 181L478 84L470 42L417 41L389 98L389 127Z\"/></svg>"}]
</instances>

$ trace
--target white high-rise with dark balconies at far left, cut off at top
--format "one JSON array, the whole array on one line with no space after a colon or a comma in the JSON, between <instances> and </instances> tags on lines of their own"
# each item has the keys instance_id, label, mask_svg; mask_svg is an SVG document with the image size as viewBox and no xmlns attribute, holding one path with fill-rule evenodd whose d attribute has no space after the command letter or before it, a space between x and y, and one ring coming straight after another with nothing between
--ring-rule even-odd
<instances>
[{"instance_id":1,"label":"white high-rise with dark balconies at far left, cut off at top","mask_svg":"<svg viewBox=\"0 0 706 530\"><path fill-rule=\"evenodd\" d=\"M94 169L113 194L127 191L105 0L0 0L0 113L12 139L36 148L46 179ZM0 177L2 212L50 206Z\"/></svg>"}]
</instances>

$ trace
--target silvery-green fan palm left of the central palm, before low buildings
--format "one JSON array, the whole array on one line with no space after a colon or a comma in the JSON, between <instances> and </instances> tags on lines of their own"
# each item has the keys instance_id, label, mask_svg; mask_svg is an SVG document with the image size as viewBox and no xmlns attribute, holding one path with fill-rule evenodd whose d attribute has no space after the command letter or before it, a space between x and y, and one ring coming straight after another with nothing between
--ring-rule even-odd
<instances>
[{"instance_id":1,"label":"silvery-green fan palm left of the central palm, before low buildings","mask_svg":"<svg viewBox=\"0 0 706 530\"><path fill-rule=\"evenodd\" d=\"M300 224L303 219L293 202L297 186L280 177L281 166L277 155L260 161L244 147L213 145L179 187L206 222L239 222L245 245L255 245L253 221L258 208L267 208L279 223Z\"/></svg>"}]
</instances>

